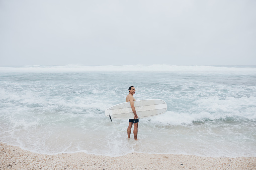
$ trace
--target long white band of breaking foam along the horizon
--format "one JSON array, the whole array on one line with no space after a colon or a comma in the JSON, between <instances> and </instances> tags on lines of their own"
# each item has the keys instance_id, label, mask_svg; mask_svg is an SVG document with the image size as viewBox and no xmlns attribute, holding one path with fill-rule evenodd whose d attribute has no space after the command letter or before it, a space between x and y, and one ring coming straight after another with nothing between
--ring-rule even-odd
<instances>
[{"instance_id":1,"label":"long white band of breaking foam along the horizon","mask_svg":"<svg viewBox=\"0 0 256 170\"><path fill-rule=\"evenodd\" d=\"M21 66L0 67L0 72L83 72L83 71L161 71L161 72L256 72L255 66L176 66L176 65L123 65L123 66Z\"/></svg>"}]
</instances>

